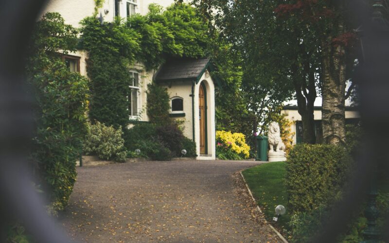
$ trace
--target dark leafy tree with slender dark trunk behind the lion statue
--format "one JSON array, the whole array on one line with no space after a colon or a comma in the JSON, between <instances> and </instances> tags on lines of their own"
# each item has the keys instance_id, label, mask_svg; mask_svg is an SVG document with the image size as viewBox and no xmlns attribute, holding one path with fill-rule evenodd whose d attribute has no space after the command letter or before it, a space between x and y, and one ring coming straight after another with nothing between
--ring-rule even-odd
<instances>
[{"instance_id":1,"label":"dark leafy tree with slender dark trunk behind the lion statue","mask_svg":"<svg viewBox=\"0 0 389 243\"><path fill-rule=\"evenodd\" d=\"M287 1L291 2L291 1ZM319 81L318 38L299 17L281 8L284 0L226 2L195 0L214 28L242 55L242 90L248 110L261 123L273 107L296 93L303 139L315 143L313 104Z\"/></svg>"}]
</instances>

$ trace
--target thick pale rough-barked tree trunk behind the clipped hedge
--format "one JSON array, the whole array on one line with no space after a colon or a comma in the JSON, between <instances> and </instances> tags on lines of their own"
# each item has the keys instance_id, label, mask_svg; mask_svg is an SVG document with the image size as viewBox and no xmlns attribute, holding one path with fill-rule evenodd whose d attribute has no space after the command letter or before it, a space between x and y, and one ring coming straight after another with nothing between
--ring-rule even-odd
<instances>
[{"instance_id":1,"label":"thick pale rough-barked tree trunk behind the clipped hedge","mask_svg":"<svg viewBox=\"0 0 389 243\"><path fill-rule=\"evenodd\" d=\"M344 33L343 21L339 20L337 34ZM346 62L345 48L331 43L328 38L323 48L322 111L323 142L326 144L345 144L345 88Z\"/></svg>"}]
</instances>

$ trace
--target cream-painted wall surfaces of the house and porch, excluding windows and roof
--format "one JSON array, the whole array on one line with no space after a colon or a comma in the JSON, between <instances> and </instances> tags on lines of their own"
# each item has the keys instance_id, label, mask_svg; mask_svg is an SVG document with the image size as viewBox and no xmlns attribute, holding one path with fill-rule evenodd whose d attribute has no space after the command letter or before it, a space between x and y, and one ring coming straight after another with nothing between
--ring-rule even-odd
<instances>
[{"instance_id":1,"label":"cream-painted wall surfaces of the house and porch, excluding windows and roof","mask_svg":"<svg viewBox=\"0 0 389 243\"><path fill-rule=\"evenodd\" d=\"M120 0L119 9L120 16L126 17L126 4L136 3L136 13L146 15L148 13L148 5L151 3L157 3L163 8L166 8L174 3L174 0ZM94 0L50 0L41 16L48 12L58 12L65 20L66 24L70 24L73 27L81 27L80 21L85 17L92 16L94 13L95 1ZM115 16L115 0L105 0L103 7L98 9L98 16L103 16L105 21L114 20ZM97 16L97 17L98 17ZM80 74L87 77L87 65L86 60L88 58L88 52L76 51L69 53L72 56L80 58ZM139 74L139 90L138 90L138 116L130 117L130 120L137 121L149 121L146 114L147 103L147 85L152 82L153 76L156 70L145 71L144 66L141 63L136 63L129 68L131 72L137 72ZM199 138L200 138L200 124L199 124L199 101L198 93L200 84L204 83L206 88L206 100L207 100L207 156L200 155ZM209 75L203 76L200 82L195 85L194 106L192 104L192 82L178 81L173 85L167 85L170 98L180 97L183 99L183 113L185 117L179 117L177 119L183 120L183 133L189 138L193 139L193 121L195 121L195 142L197 146L197 159L215 159L215 86ZM197 119L193 119L193 117ZM133 125L129 125L129 128Z\"/></svg>"}]
</instances>

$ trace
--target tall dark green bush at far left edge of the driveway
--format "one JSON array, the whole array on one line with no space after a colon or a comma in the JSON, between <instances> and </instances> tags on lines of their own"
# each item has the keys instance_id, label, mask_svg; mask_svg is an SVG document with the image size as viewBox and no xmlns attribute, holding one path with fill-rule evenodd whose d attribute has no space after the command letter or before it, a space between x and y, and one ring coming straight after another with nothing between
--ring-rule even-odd
<instances>
[{"instance_id":1,"label":"tall dark green bush at far left edge of the driveway","mask_svg":"<svg viewBox=\"0 0 389 243\"><path fill-rule=\"evenodd\" d=\"M47 13L35 24L25 73L35 95L35 131L31 160L38 184L53 214L69 201L76 181L76 163L87 133L88 79L71 72L61 56L76 51L77 31L58 13Z\"/></svg>"}]
</instances>

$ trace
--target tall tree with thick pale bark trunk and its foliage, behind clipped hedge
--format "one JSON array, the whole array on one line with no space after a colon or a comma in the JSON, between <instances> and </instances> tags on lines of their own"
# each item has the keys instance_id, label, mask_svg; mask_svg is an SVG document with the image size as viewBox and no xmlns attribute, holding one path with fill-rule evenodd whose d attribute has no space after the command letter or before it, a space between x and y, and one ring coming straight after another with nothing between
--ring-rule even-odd
<instances>
[{"instance_id":1,"label":"tall tree with thick pale bark trunk and its foliage, behind clipped hedge","mask_svg":"<svg viewBox=\"0 0 389 243\"><path fill-rule=\"evenodd\" d=\"M281 4L278 11L288 18L298 17L317 38L311 45L320 50L322 129L324 143L344 145L345 89L354 66L352 52L355 35L353 22L347 15L350 5L345 0L294 0ZM353 86L352 86L353 87Z\"/></svg>"}]
</instances>

